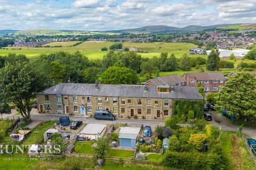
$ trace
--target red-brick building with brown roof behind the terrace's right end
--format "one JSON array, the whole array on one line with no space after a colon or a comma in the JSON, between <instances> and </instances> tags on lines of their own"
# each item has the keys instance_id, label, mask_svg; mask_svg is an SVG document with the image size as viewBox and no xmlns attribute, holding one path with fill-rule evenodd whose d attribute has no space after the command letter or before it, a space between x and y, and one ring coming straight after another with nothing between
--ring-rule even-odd
<instances>
[{"instance_id":1,"label":"red-brick building with brown roof behind the terrace's right end","mask_svg":"<svg viewBox=\"0 0 256 170\"><path fill-rule=\"evenodd\" d=\"M201 83L205 93L218 92L226 83L226 78L221 72L185 73L183 78L187 81L187 86L198 86Z\"/></svg>"}]
</instances>

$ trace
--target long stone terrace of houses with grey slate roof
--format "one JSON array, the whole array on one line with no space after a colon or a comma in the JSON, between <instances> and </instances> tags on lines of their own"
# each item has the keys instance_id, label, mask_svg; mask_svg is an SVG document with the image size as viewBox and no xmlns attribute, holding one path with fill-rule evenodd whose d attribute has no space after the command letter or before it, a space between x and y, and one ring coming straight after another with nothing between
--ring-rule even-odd
<instances>
[{"instance_id":1,"label":"long stone terrace of houses with grey slate roof","mask_svg":"<svg viewBox=\"0 0 256 170\"><path fill-rule=\"evenodd\" d=\"M198 87L60 83L37 94L39 113L91 116L107 110L117 117L170 118L173 100L202 100Z\"/></svg>"}]
</instances>

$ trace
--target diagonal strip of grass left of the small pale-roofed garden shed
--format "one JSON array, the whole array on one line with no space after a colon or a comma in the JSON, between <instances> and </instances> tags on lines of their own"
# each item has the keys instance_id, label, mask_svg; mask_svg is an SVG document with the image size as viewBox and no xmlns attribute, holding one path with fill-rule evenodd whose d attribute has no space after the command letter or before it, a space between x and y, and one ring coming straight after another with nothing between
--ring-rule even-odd
<instances>
[{"instance_id":1,"label":"diagonal strip of grass left of the small pale-roofed garden shed","mask_svg":"<svg viewBox=\"0 0 256 170\"><path fill-rule=\"evenodd\" d=\"M31 130L29 137L22 143L22 145L36 144L39 140L43 139L44 132L50 129L54 123L54 121L47 121L37 125L36 128Z\"/></svg>"}]
</instances>

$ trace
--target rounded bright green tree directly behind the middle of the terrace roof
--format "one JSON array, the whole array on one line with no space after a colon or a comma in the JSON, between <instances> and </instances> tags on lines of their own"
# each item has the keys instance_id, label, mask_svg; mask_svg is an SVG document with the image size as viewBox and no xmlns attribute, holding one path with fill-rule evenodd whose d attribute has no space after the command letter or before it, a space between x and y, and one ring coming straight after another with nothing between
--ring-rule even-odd
<instances>
[{"instance_id":1,"label":"rounded bright green tree directly behind the middle of the terrace roof","mask_svg":"<svg viewBox=\"0 0 256 170\"><path fill-rule=\"evenodd\" d=\"M100 77L104 84L136 84L138 79L134 70L118 66L110 66Z\"/></svg>"}]
</instances>

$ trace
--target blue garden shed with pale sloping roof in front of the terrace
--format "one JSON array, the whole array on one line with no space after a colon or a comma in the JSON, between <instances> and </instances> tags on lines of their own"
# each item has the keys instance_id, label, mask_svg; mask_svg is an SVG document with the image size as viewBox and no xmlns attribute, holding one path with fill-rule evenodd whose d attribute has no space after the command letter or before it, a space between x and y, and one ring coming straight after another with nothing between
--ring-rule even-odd
<instances>
[{"instance_id":1,"label":"blue garden shed with pale sloping roof in front of the terrace","mask_svg":"<svg viewBox=\"0 0 256 170\"><path fill-rule=\"evenodd\" d=\"M119 147L134 149L137 143L140 128L124 127L119 131Z\"/></svg>"}]
</instances>

